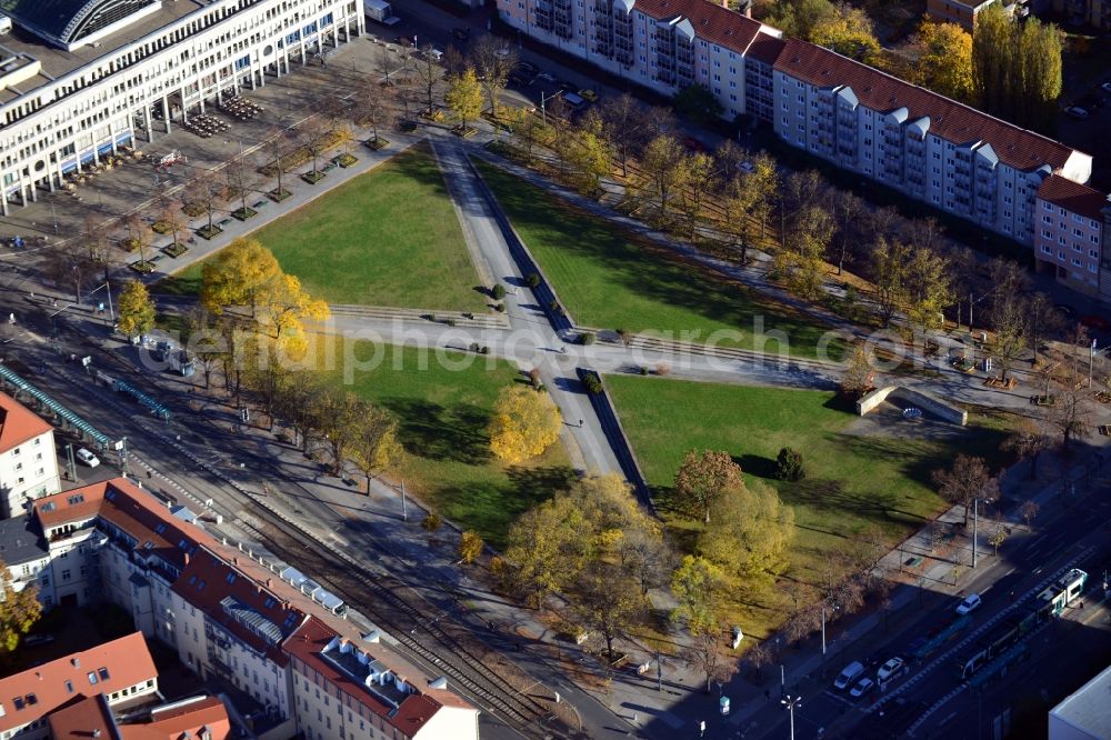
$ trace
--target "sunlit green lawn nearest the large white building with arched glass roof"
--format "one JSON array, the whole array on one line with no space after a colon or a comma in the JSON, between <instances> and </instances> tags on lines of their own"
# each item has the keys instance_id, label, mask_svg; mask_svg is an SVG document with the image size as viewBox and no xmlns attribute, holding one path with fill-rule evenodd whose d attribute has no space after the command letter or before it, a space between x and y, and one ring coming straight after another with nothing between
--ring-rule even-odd
<instances>
[{"instance_id":1,"label":"sunlit green lawn nearest the large white building with arched glass roof","mask_svg":"<svg viewBox=\"0 0 1111 740\"><path fill-rule=\"evenodd\" d=\"M281 208L270 203L263 209ZM413 147L251 234L329 303L484 311L443 177ZM158 292L196 293L202 262Z\"/></svg>"}]
</instances>

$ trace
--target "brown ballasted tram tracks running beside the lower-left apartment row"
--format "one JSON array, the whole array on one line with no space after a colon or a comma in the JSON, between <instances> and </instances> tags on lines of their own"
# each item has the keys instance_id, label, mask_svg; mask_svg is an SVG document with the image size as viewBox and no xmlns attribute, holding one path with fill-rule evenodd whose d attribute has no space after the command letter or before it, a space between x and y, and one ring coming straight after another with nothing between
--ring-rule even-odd
<instances>
[{"instance_id":1,"label":"brown ballasted tram tracks running beside the lower-left apartment row","mask_svg":"<svg viewBox=\"0 0 1111 740\"><path fill-rule=\"evenodd\" d=\"M513 687L502 674L482 662L472 649L462 643L463 636L449 633L450 628L442 627L438 618L431 617L440 612L438 607L392 576L368 576L366 566L340 550L329 548L296 524L291 526L268 508L254 510L254 513L261 512L264 512L262 518L267 524L278 531L277 536L244 522L240 522L240 527L252 530L276 557L311 572L316 580L384 628L427 667L454 681L492 714L526 733L534 734L541 730L540 722L551 716L551 708ZM307 550L311 553L309 558L306 557ZM413 629L413 624L418 627ZM426 633L436 648L417 640L414 632Z\"/></svg>"}]
</instances>

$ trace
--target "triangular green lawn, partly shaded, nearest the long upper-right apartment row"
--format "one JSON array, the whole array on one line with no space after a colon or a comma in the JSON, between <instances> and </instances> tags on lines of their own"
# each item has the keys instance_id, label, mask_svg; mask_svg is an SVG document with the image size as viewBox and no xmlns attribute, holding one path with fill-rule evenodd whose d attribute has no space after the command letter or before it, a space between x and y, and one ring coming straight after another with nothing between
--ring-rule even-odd
<instances>
[{"instance_id":1,"label":"triangular green lawn, partly shaded, nearest the long upper-right apartment row","mask_svg":"<svg viewBox=\"0 0 1111 740\"><path fill-rule=\"evenodd\" d=\"M714 332L730 332L718 343L750 349L759 346L760 333L774 329L787 334L791 354L815 354L828 327L679 260L503 170L482 163L480 169L579 323L699 342L713 341ZM761 320L762 329L757 323ZM838 342L834 352L840 347ZM770 341L765 349L778 352L779 343Z\"/></svg>"}]
</instances>

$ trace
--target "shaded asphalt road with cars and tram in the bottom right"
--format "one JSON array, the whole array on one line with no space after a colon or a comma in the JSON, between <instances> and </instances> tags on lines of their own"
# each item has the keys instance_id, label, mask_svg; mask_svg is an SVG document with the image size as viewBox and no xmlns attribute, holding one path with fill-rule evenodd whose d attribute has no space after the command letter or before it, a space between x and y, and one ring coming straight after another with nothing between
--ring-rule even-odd
<instances>
[{"instance_id":1,"label":"shaded asphalt road with cars and tram in the bottom right","mask_svg":"<svg viewBox=\"0 0 1111 740\"><path fill-rule=\"evenodd\" d=\"M1051 623L1028 637L1030 659L1012 670L1005 680L984 688L982 693L962 689L963 682L955 674L954 664L977 639L990 633L989 622L993 618L1024 613L1031 604L1030 599L1044 588L1045 580L1067 568L1079 567L1089 573L1085 598L1090 603L1102 596L1102 573L1111 566L1111 539L1107 531L1107 522L1111 521L1109 490L1104 484L1072 509L1062 510L1052 519L1047 518L1042 522L1044 527L1023 538L1022 542L1009 544L1004 557L981 561L983 570L969 583L965 593L978 591L983 604L972 613L972 621L964 630L922 662L918 663L908 656L907 646L949 624L959 599L923 593L920 617L892 634L875 634L877 639L871 642L874 651L871 653L845 654L835 647L831 648L825 678L820 679L812 692L803 697L803 707L794 712L797 737L979 740L980 737L991 737L987 726L980 724L981 718L983 722L990 722L1007 708L1014 707L1014 697L1039 693L1047 686L1057 686L1049 677L1062 680L1075 678L1075 666L1070 669L1068 661L1062 663L1058 660L1061 649L1057 644L1058 636L1082 616L1075 607L1067 610L1059 623ZM978 588L979 583L984 586ZM1095 617L1094 608L1088 612ZM1105 624L1105 612L1103 620ZM1109 630L1104 628L1100 636L1099 644L1103 646L1101 650L1107 654L1111 647ZM862 676L874 678L877 666L899 654L908 657L908 668L888 684L884 692L875 691L868 698L853 700L845 691L832 686L837 673L853 660L870 664ZM1040 668L1043 662L1047 663L1047 671ZM882 700L880 706L875 703L878 699ZM765 712L759 730L745 737L782 738L788 732L788 723L785 713L772 708ZM982 734L977 734L978 726ZM905 734L912 728L914 734ZM820 729L824 729L824 736L819 734Z\"/></svg>"}]
</instances>

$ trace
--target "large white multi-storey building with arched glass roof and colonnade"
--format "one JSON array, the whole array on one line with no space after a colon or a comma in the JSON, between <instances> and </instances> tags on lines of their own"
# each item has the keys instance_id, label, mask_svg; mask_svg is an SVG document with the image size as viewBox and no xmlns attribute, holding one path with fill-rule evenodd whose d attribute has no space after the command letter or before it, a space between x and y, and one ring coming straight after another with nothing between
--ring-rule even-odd
<instances>
[{"instance_id":1,"label":"large white multi-storey building with arched glass roof and colonnade","mask_svg":"<svg viewBox=\"0 0 1111 740\"><path fill-rule=\"evenodd\" d=\"M364 31L359 0L6 0L0 210Z\"/></svg>"}]
</instances>

